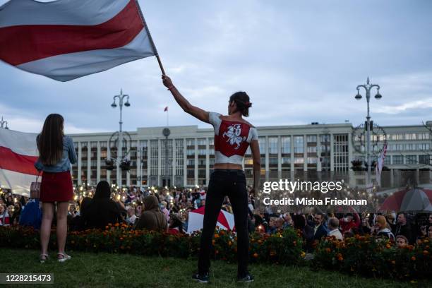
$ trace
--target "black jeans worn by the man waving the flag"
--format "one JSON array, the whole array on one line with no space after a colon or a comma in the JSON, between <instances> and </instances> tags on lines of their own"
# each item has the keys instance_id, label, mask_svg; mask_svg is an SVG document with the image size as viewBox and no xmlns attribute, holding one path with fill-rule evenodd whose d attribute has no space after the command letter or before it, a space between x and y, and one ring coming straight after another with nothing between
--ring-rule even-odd
<instances>
[{"instance_id":1,"label":"black jeans worn by the man waving the flag","mask_svg":"<svg viewBox=\"0 0 432 288\"><path fill-rule=\"evenodd\" d=\"M198 272L204 274L210 268L212 236L215 234L217 216L225 196L229 197L234 212L237 233L238 275L244 277L248 270L249 235L248 235L248 193L246 177L242 170L215 169L210 176L207 196L205 196L205 214L203 232L200 239Z\"/></svg>"}]
</instances>

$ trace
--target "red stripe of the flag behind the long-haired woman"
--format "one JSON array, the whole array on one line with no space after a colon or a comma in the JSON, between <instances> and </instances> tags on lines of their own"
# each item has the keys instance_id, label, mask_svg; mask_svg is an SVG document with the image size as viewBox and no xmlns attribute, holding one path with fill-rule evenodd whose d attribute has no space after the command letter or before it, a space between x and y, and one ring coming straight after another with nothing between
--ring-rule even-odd
<instances>
[{"instance_id":1,"label":"red stripe of the flag behind the long-haired woman","mask_svg":"<svg viewBox=\"0 0 432 288\"><path fill-rule=\"evenodd\" d=\"M36 175L35 162L37 156L20 155L6 147L0 147L0 169L6 169L23 174Z\"/></svg>"}]
</instances>

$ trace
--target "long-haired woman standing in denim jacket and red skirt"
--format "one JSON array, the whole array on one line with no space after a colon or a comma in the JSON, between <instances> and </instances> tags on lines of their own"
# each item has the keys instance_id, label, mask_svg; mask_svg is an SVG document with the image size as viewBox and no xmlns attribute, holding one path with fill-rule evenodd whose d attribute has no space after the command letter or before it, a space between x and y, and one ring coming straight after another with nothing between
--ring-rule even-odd
<instances>
[{"instance_id":1,"label":"long-haired woman standing in denim jacket and red skirt","mask_svg":"<svg viewBox=\"0 0 432 288\"><path fill-rule=\"evenodd\" d=\"M69 201L73 200L71 164L76 163L77 156L73 140L64 135L64 119L59 114L49 114L45 119L42 132L37 136L39 159L35 162L38 172L42 171L40 184L40 201L42 202L42 225L40 227L40 262L48 258L49 236L51 234L54 204L57 216L57 259L64 262L71 259L64 250L68 232L67 215Z\"/></svg>"}]
</instances>

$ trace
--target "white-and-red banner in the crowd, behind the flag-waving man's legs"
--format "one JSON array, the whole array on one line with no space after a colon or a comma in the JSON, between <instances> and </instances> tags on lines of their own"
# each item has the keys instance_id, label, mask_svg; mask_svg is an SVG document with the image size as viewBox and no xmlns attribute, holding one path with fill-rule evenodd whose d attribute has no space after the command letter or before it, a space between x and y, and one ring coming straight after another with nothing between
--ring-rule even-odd
<instances>
[{"instance_id":1,"label":"white-and-red banner in the crowd, behind the flag-waving man's legs","mask_svg":"<svg viewBox=\"0 0 432 288\"><path fill-rule=\"evenodd\" d=\"M189 212L188 215L188 234L203 229L205 206ZM217 216L216 226L224 230L234 230L234 215L220 210Z\"/></svg>"}]
</instances>

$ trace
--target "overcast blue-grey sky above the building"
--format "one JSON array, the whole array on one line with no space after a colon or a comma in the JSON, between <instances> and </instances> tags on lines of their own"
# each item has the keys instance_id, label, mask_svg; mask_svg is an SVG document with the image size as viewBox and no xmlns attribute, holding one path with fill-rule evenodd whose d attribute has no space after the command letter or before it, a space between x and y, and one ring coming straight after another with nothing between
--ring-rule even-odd
<instances>
[{"instance_id":1,"label":"overcast blue-grey sky above the building","mask_svg":"<svg viewBox=\"0 0 432 288\"><path fill-rule=\"evenodd\" d=\"M226 113L244 90L256 126L356 126L366 116L356 85L369 76L383 95L371 99L377 124L432 120L432 1L139 2L167 75L205 110ZM210 128L178 107L160 74L150 57L61 83L0 61L0 117L17 131L39 132L50 113L65 117L66 133L115 131L110 104L123 88L127 131L166 125L165 106L170 125Z\"/></svg>"}]
</instances>

